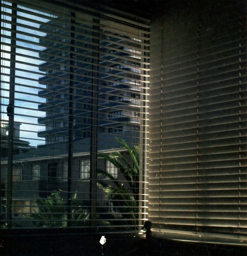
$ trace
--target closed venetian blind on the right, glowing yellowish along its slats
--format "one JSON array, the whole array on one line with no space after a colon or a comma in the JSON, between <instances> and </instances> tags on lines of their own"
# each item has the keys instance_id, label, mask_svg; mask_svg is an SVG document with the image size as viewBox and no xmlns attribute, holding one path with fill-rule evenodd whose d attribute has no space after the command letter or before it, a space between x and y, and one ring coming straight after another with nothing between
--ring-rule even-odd
<instances>
[{"instance_id":1,"label":"closed venetian blind on the right, glowing yellowish along its slats","mask_svg":"<svg viewBox=\"0 0 247 256\"><path fill-rule=\"evenodd\" d=\"M238 3L185 3L151 23L154 235L246 244L246 13Z\"/></svg>"}]
</instances>

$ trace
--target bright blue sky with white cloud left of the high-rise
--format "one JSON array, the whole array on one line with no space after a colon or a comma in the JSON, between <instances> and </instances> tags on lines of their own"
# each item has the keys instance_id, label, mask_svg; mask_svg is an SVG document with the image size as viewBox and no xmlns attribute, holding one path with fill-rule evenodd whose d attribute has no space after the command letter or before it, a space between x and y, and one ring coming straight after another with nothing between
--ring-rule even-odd
<instances>
[{"instance_id":1,"label":"bright blue sky with white cloud left of the high-rise","mask_svg":"<svg viewBox=\"0 0 247 256\"><path fill-rule=\"evenodd\" d=\"M22 7L25 10L30 10L25 7ZM10 10L7 8L1 9L10 13ZM38 13L38 12L37 12ZM41 12L39 12L41 13ZM20 40L28 40L29 42L16 41L16 61L21 61L22 63L16 63L15 76L15 121L21 122L21 139L28 140L31 146L37 146L44 143L42 138L37 136L38 130L44 129L44 126L38 125L38 117L45 116L44 112L38 110L38 104L45 102L44 98L38 96L39 90L45 88L44 85L40 85L38 82L39 77L42 76L42 72L38 67L32 65L40 65L43 60L39 60L39 54L33 50L44 50L43 46L39 45L39 38L45 36L44 32L36 30L39 28L39 22L47 22L48 19L36 17L31 14L17 12L18 15L21 15L27 19L33 19L36 22L25 21L22 19L17 19L17 23L31 26L32 28L25 28L22 26L17 26L17 30L20 33L28 33L33 36L27 36L17 33L16 38ZM44 14L44 13L42 13ZM46 14L47 18L49 14ZM2 30L1 30L1 89L2 90L2 99L1 99L1 119L8 120L6 114L6 106L9 103L9 67L10 67L10 29L11 25L6 23L11 20L10 15L3 15L2 17ZM5 22L6 21L6 22ZM5 36L5 37L4 37ZM24 47L25 49L22 49ZM19 55L25 56L19 56ZM22 69L22 70L19 70ZM31 72L30 72L31 71ZM20 78L18 78L18 76ZM22 86L23 85L23 86ZM29 86L29 87L27 87ZM33 110L32 110L33 109Z\"/></svg>"}]
</instances>

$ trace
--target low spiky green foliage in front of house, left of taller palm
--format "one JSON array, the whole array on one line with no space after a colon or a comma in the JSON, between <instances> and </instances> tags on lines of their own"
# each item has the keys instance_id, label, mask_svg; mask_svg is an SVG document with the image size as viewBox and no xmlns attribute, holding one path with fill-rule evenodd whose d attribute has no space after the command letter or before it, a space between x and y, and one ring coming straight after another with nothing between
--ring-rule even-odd
<instances>
[{"instance_id":1,"label":"low spiky green foliage in front of house, left of taller palm","mask_svg":"<svg viewBox=\"0 0 247 256\"><path fill-rule=\"evenodd\" d=\"M72 209L70 214L70 226L83 226L89 220L89 213L82 207L84 201L78 200L75 193L70 201ZM37 207L39 211L26 215L33 219L33 224L38 227L67 227L68 226L68 206L67 200L63 199L58 191L51 193L47 199L37 198Z\"/></svg>"}]
</instances>

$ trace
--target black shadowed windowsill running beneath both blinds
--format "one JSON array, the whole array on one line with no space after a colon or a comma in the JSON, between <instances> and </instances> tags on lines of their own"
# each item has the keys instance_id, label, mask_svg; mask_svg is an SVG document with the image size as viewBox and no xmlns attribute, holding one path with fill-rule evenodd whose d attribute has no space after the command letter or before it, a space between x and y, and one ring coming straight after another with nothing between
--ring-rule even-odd
<instances>
[{"instance_id":1,"label":"black shadowed windowsill running beneath both blinds","mask_svg":"<svg viewBox=\"0 0 247 256\"><path fill-rule=\"evenodd\" d=\"M246 255L246 247L217 244L200 244L192 242L174 241L171 239L159 239L152 237L145 239L143 235L130 233L123 234L90 234L80 230L68 232L68 230L21 230L12 234L3 234L1 240L1 255L9 256L51 256L51 255L108 255L108 256L243 256ZM107 242L102 246L99 241L104 235Z\"/></svg>"}]
</instances>

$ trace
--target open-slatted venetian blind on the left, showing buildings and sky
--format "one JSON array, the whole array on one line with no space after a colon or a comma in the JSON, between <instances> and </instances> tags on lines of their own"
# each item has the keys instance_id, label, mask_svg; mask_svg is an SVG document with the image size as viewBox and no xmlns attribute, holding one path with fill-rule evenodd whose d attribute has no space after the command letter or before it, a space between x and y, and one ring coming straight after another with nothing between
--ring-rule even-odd
<instances>
[{"instance_id":1,"label":"open-slatted venetian blind on the left, showing buildings and sky","mask_svg":"<svg viewBox=\"0 0 247 256\"><path fill-rule=\"evenodd\" d=\"M1 1L2 229L136 232L147 218L148 22L56 3ZM126 157L114 175L111 152Z\"/></svg>"}]
</instances>

